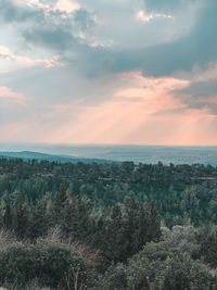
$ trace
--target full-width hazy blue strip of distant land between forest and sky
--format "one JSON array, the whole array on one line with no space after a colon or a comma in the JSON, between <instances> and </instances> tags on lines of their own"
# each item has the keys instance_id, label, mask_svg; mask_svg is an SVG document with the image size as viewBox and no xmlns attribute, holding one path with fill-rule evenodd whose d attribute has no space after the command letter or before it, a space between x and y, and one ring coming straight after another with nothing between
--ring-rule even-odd
<instances>
[{"instance_id":1,"label":"full-width hazy blue strip of distant land between forest and sky","mask_svg":"<svg viewBox=\"0 0 217 290\"><path fill-rule=\"evenodd\" d=\"M27 151L26 151L27 150ZM71 146L71 144L34 144L34 143L1 143L0 151L4 155L23 159L46 159L59 162L78 161L90 163L112 163L133 161L136 164L210 164L217 166L217 146L215 147L173 147L173 146ZM11 151L11 152L7 152ZM15 152L14 152L15 151ZM20 151L20 152L17 152ZM30 152L29 152L30 151ZM46 152L48 154L41 155ZM10 154L9 154L10 153ZM14 155L14 154L23 154ZM40 154L40 155L35 155ZM1 155L1 152L0 152Z\"/></svg>"}]
</instances>

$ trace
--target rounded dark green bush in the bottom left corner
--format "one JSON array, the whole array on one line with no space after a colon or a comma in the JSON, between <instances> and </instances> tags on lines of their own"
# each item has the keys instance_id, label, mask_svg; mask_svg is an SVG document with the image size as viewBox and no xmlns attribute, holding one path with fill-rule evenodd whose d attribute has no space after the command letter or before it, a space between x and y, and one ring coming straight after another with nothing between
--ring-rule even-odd
<instances>
[{"instance_id":1,"label":"rounded dark green bush in the bottom left corner","mask_svg":"<svg viewBox=\"0 0 217 290\"><path fill-rule=\"evenodd\" d=\"M41 287L52 289L67 285L85 283L87 265L82 256L72 247L40 240L36 244L12 243L0 250L0 281L25 286L38 279Z\"/></svg>"}]
</instances>

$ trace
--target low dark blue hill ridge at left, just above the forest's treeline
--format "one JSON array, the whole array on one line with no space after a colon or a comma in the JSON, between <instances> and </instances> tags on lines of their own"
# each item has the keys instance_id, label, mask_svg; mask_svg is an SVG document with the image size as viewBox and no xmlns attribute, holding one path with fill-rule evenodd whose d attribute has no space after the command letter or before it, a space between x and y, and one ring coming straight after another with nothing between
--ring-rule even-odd
<instances>
[{"instance_id":1,"label":"low dark blue hill ridge at left, just above the forest's treeline","mask_svg":"<svg viewBox=\"0 0 217 290\"><path fill-rule=\"evenodd\" d=\"M71 155L52 155L52 154L46 154L46 153L40 153L40 152L31 152L31 151L21 151L21 152L0 152L0 157L5 157L5 159L22 159L22 160L47 160L50 162L60 162L60 163L113 163L115 161L112 160L103 160L103 159L86 159L86 157L78 157L78 156L71 156ZM115 162L115 163L120 163L120 162Z\"/></svg>"}]
</instances>

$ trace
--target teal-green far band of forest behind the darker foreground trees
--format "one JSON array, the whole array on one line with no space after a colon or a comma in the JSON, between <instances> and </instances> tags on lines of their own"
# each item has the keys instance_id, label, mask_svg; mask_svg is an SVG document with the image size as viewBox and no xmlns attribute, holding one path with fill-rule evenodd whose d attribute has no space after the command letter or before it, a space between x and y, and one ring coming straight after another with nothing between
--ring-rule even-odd
<instances>
[{"instance_id":1,"label":"teal-green far band of forest behind the darker foreground trees","mask_svg":"<svg viewBox=\"0 0 217 290\"><path fill-rule=\"evenodd\" d=\"M130 194L139 202L153 202L168 227L217 224L217 168L209 165L59 164L0 159L0 224L8 228L16 219L13 212L21 203L34 207L42 201L48 209L52 202L60 212L67 188L72 197L86 197L98 210L123 203ZM11 217L9 207L4 216L8 205Z\"/></svg>"}]
</instances>

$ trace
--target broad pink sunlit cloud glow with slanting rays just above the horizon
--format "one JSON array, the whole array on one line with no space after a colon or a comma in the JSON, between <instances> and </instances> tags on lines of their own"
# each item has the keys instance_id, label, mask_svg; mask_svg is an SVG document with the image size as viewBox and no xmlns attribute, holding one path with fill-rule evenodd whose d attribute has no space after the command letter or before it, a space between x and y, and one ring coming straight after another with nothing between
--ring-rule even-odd
<instances>
[{"instance_id":1,"label":"broad pink sunlit cloud glow with slanting rays just above the horizon","mask_svg":"<svg viewBox=\"0 0 217 290\"><path fill-rule=\"evenodd\" d=\"M107 92L108 101L89 106L50 105L46 114L36 110L28 122L11 125L8 134L0 128L0 134L15 138L15 136L17 131L26 136L25 141L49 143L217 143L217 117L208 109L188 109L184 99L174 94L189 81L145 78L139 72L116 78L119 87Z\"/></svg>"}]
</instances>

